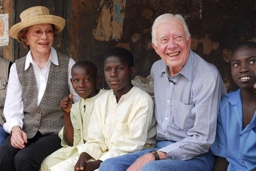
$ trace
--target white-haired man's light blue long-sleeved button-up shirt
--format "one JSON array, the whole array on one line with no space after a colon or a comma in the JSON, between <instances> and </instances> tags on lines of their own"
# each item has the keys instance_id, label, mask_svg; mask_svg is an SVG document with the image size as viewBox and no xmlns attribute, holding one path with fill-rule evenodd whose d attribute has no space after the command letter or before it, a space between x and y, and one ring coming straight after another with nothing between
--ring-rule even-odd
<instances>
[{"instance_id":1,"label":"white-haired man's light blue long-sleeved button-up shirt","mask_svg":"<svg viewBox=\"0 0 256 171\"><path fill-rule=\"evenodd\" d=\"M163 60L151 69L155 91L157 140L171 140L160 151L188 160L208 152L216 134L221 96L226 92L217 68L190 50L181 71L170 77Z\"/></svg>"}]
</instances>

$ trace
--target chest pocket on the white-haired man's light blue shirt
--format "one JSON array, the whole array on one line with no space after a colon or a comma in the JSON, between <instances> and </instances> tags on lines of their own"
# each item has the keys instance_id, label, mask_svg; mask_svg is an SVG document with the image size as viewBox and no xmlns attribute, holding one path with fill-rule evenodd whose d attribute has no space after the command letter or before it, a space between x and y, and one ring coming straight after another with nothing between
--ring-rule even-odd
<instances>
[{"instance_id":1,"label":"chest pocket on the white-haired man's light blue shirt","mask_svg":"<svg viewBox=\"0 0 256 171\"><path fill-rule=\"evenodd\" d=\"M174 114L174 124L181 130L188 131L194 126L194 119L191 116L191 110L194 104L185 104L178 102L176 112Z\"/></svg>"}]
</instances>

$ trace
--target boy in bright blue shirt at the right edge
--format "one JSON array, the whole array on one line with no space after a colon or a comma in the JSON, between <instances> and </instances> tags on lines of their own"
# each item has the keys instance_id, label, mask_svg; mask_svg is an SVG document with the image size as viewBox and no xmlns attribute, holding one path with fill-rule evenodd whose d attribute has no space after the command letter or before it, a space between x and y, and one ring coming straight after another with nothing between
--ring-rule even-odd
<instances>
[{"instance_id":1,"label":"boy in bright blue shirt at the right edge","mask_svg":"<svg viewBox=\"0 0 256 171\"><path fill-rule=\"evenodd\" d=\"M256 43L244 42L231 55L231 75L240 87L220 102L212 153L214 170L256 170Z\"/></svg>"}]
</instances>

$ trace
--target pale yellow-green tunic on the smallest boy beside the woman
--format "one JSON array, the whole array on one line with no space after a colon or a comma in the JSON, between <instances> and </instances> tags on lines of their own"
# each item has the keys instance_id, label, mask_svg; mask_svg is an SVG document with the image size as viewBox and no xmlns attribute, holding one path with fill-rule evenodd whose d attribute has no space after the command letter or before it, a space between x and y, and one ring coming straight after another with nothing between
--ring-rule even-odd
<instances>
[{"instance_id":1,"label":"pale yellow-green tunic on the smallest boy beside the woman","mask_svg":"<svg viewBox=\"0 0 256 171\"><path fill-rule=\"evenodd\" d=\"M49 170L49 168L61 161L79 155L77 145L81 145L87 140L88 125L90 122L91 113L93 111L94 102L105 90L100 90L99 93L91 98L81 98L78 102L72 105L70 116L74 128L73 146L69 146L65 138L65 127L59 133L61 145L59 150L47 156L42 164L41 170Z\"/></svg>"}]
</instances>

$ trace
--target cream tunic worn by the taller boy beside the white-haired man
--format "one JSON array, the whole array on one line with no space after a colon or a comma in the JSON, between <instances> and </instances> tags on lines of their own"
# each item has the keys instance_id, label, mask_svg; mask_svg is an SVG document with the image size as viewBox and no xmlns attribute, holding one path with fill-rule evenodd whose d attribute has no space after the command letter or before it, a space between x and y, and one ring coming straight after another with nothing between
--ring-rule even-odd
<instances>
[{"instance_id":1,"label":"cream tunic worn by the taller boy beside the white-haired man","mask_svg":"<svg viewBox=\"0 0 256 171\"><path fill-rule=\"evenodd\" d=\"M156 120L153 101L148 93L133 87L118 103L112 90L95 100L85 144L77 146L79 154L87 152L93 159L107 158L155 146ZM67 159L52 170L74 170L79 156Z\"/></svg>"}]
</instances>

